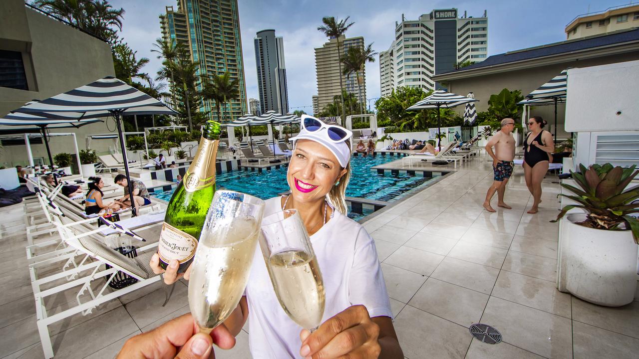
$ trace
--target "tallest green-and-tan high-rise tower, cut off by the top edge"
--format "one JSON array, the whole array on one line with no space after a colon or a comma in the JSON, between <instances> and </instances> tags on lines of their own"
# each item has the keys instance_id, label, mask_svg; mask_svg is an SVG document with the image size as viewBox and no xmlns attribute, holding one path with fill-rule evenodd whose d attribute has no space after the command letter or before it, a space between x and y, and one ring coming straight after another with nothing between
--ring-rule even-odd
<instances>
[{"instance_id":1,"label":"tallest green-and-tan high-rise tower, cut off by the top edge","mask_svg":"<svg viewBox=\"0 0 639 359\"><path fill-rule=\"evenodd\" d=\"M240 96L222 107L224 121L245 114L247 98L237 0L178 0L177 10L166 6L166 13L160 15L160 25L163 40L187 45L191 59L199 63L197 75L202 79L229 72L231 79L238 80ZM213 118L217 118L217 109L211 101L205 101L201 110L211 111Z\"/></svg>"}]
</instances>

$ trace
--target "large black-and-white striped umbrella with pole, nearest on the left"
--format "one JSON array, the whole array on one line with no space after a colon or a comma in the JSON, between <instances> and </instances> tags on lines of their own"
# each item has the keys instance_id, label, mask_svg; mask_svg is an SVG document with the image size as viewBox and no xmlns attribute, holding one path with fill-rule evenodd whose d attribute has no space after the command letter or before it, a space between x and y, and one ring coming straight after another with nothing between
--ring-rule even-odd
<instances>
[{"instance_id":1,"label":"large black-and-white striped umbrella with pole, nearest on the left","mask_svg":"<svg viewBox=\"0 0 639 359\"><path fill-rule=\"evenodd\" d=\"M24 105L12 112L23 112L39 116L50 115L52 112L59 116L66 116L65 112L77 112L80 115L76 118L78 120L112 116L118 127L120 148L122 149L128 192L130 194L133 194L133 186L128 172L127 149L124 145L121 116L127 114L177 114L160 100L146 95L139 89L133 88L112 76L104 77L104 79L96 80L88 85L52 96L40 102ZM131 203L133 204L133 199L131 199ZM135 216L135 207L132 210L132 215Z\"/></svg>"}]
</instances>

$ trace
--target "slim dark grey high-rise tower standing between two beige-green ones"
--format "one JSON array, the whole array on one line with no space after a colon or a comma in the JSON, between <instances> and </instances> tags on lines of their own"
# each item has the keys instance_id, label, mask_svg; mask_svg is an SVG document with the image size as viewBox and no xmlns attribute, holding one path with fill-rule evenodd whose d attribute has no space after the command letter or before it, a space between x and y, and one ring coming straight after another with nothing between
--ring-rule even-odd
<instances>
[{"instance_id":1,"label":"slim dark grey high-rise tower standing between two beige-green ones","mask_svg":"<svg viewBox=\"0 0 639 359\"><path fill-rule=\"evenodd\" d=\"M284 40L275 30L259 31L254 39L258 70L259 103L262 113L273 110L288 113L288 88L284 64Z\"/></svg>"}]
</instances>

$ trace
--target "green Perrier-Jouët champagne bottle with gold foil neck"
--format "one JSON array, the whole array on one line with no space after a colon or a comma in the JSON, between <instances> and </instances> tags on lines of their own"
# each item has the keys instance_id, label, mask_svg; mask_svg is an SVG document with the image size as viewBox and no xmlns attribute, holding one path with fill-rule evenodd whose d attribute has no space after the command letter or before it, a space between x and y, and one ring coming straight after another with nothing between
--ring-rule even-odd
<instances>
[{"instance_id":1,"label":"green Perrier-Jou\u00ebt champagne bottle with gold foil neck","mask_svg":"<svg viewBox=\"0 0 639 359\"><path fill-rule=\"evenodd\" d=\"M215 194L219 137L220 124L207 121L197 155L171 196L158 243L160 267L164 269L177 259L180 262L178 273L184 273L196 254L197 241Z\"/></svg>"}]
</instances>

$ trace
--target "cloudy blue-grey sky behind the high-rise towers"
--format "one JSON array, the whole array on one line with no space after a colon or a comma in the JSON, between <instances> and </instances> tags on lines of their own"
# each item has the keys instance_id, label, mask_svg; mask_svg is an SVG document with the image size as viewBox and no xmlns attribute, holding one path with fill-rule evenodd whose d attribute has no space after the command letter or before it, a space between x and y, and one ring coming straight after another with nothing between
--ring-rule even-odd
<instances>
[{"instance_id":1,"label":"cloudy blue-grey sky behind the high-rise towers","mask_svg":"<svg viewBox=\"0 0 639 359\"><path fill-rule=\"evenodd\" d=\"M158 15L172 0L110 0L114 7L126 11L121 36L137 50L139 57L151 62L145 72L155 74L160 67L151 44L160 37ZM636 0L633 2L637 2ZM480 4L481 3L481 4ZM289 107L311 112L311 96L317 93L314 48L327 38L317 31L324 16L355 22L348 37L364 36L376 51L387 50L394 38L395 22L402 14L416 20L433 9L457 8L460 14L481 17L488 11L488 55L525 49L566 39L564 28L577 15L601 11L610 6L630 3L629 0L486 0L486 1L423 1L423 0L238 0L240 31L247 96L258 98L253 38L263 29L275 29L284 37L284 57L288 77ZM380 96L380 69L377 61L366 66L367 98Z\"/></svg>"}]
</instances>

